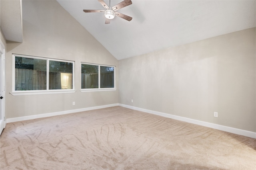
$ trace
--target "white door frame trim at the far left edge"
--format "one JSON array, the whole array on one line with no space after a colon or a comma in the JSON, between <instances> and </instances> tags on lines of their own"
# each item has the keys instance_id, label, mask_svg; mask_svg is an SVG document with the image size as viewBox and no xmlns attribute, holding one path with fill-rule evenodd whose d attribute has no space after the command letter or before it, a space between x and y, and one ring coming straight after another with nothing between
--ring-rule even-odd
<instances>
[{"instance_id":1,"label":"white door frame trim at the far left edge","mask_svg":"<svg viewBox=\"0 0 256 170\"><path fill-rule=\"evenodd\" d=\"M2 91L2 97L3 99L1 99L1 113L2 113L2 117L0 117L0 119L4 120L4 128L6 126L6 115L5 115L5 47L4 44L2 43L2 41L0 41L0 59L1 59L1 67L0 67L0 74L1 75L1 85L0 87L2 87L2 89L0 89ZM2 131L0 132L2 133Z\"/></svg>"}]
</instances>

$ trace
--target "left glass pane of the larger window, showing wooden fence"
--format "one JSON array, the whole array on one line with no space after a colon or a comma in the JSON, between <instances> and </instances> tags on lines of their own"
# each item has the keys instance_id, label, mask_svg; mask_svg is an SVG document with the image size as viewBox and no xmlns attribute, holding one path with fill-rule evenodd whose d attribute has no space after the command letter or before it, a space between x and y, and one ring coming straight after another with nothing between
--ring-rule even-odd
<instances>
[{"instance_id":1,"label":"left glass pane of the larger window, showing wooden fence","mask_svg":"<svg viewBox=\"0 0 256 170\"><path fill-rule=\"evenodd\" d=\"M15 57L15 90L46 90L46 60Z\"/></svg>"}]
</instances>

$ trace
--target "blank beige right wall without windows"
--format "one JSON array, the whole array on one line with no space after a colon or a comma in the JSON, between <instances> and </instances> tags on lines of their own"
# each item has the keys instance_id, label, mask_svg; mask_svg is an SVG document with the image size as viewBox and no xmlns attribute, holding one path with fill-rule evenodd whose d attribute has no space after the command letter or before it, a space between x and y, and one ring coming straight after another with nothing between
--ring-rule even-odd
<instances>
[{"instance_id":1,"label":"blank beige right wall without windows","mask_svg":"<svg viewBox=\"0 0 256 170\"><path fill-rule=\"evenodd\" d=\"M118 61L119 103L256 132L255 30Z\"/></svg>"}]
</instances>

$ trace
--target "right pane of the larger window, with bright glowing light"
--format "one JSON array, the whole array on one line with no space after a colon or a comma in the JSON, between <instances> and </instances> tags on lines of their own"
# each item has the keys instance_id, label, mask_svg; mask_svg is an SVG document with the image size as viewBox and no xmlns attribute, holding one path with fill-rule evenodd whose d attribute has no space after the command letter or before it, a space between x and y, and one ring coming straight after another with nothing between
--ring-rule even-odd
<instances>
[{"instance_id":1,"label":"right pane of the larger window, with bright glowing light","mask_svg":"<svg viewBox=\"0 0 256 170\"><path fill-rule=\"evenodd\" d=\"M49 90L73 89L73 63L49 61Z\"/></svg>"}]
</instances>

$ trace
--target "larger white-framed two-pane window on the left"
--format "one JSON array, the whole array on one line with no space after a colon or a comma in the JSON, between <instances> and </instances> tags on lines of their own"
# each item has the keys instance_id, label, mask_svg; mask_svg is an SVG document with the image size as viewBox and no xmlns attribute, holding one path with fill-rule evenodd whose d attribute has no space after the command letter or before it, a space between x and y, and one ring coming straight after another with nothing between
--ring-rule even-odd
<instances>
[{"instance_id":1,"label":"larger white-framed two-pane window on the left","mask_svg":"<svg viewBox=\"0 0 256 170\"><path fill-rule=\"evenodd\" d=\"M74 90L74 62L13 55L14 92Z\"/></svg>"}]
</instances>

